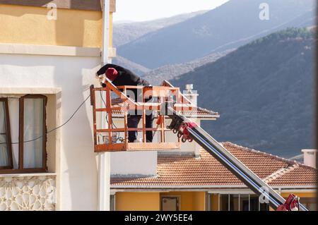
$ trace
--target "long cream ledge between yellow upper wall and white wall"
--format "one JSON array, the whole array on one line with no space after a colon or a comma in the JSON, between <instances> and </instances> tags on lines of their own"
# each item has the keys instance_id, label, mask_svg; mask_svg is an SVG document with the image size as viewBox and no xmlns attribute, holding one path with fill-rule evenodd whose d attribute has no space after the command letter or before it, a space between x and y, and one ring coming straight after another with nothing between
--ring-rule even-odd
<instances>
[{"instance_id":1,"label":"long cream ledge between yellow upper wall and white wall","mask_svg":"<svg viewBox=\"0 0 318 225\"><path fill-rule=\"evenodd\" d=\"M100 57L100 48L33 44L0 44L0 54Z\"/></svg>"}]
</instances>

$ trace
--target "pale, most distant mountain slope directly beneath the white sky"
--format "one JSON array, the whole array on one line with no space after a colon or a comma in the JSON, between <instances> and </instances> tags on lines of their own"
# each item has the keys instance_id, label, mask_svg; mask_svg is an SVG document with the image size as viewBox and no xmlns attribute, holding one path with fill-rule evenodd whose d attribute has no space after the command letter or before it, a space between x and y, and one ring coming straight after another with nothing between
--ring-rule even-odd
<instances>
[{"instance_id":1,"label":"pale, most distant mountain slope directly beneath the white sky","mask_svg":"<svg viewBox=\"0 0 318 225\"><path fill-rule=\"evenodd\" d=\"M158 20L150 20L145 22L120 22L114 23L114 47L119 47L122 44L129 43L139 37L146 35L148 32L153 32L161 28L165 28L176 23L181 23L184 20L198 16L206 11L197 11L194 13L184 13L170 18L161 18Z\"/></svg>"}]
</instances>

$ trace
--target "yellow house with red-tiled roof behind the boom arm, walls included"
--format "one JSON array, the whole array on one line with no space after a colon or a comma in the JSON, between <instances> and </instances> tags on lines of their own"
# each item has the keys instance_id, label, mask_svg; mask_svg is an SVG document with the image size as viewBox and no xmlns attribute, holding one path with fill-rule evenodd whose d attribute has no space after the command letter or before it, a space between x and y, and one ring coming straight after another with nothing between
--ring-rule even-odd
<instances>
[{"instance_id":1,"label":"yellow house with red-tiled roof behind the boom arm, walls included","mask_svg":"<svg viewBox=\"0 0 318 225\"><path fill-rule=\"evenodd\" d=\"M283 197L294 193L308 209L317 209L317 169L231 142L222 144ZM273 210L205 150L199 155L159 152L157 160L153 176L112 176L113 210Z\"/></svg>"}]
</instances>

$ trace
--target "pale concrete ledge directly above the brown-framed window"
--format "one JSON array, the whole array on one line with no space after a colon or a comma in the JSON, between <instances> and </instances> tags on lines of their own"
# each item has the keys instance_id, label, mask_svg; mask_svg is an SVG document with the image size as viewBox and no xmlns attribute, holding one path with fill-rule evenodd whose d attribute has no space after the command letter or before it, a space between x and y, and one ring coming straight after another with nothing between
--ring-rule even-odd
<instances>
[{"instance_id":1,"label":"pale concrete ledge directly above the brown-framed window","mask_svg":"<svg viewBox=\"0 0 318 225\"><path fill-rule=\"evenodd\" d=\"M2 95L56 95L60 87L0 87Z\"/></svg>"}]
</instances>

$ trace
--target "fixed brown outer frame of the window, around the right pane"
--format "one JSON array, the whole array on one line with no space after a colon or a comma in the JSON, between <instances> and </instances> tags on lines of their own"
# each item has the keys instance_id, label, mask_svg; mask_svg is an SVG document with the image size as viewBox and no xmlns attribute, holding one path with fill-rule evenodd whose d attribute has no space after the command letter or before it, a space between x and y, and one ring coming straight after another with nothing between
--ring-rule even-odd
<instances>
[{"instance_id":1,"label":"fixed brown outer frame of the window, around the right pane","mask_svg":"<svg viewBox=\"0 0 318 225\"><path fill-rule=\"evenodd\" d=\"M23 168L23 147L24 147L24 99L43 99L43 142L42 142L42 167L41 168ZM1 169L0 174L36 174L47 173L47 96L45 95L24 95L19 98L19 140L18 140L18 169L13 169L13 154L11 148L12 167ZM12 144L12 142L10 142ZM11 147L12 145L10 145Z\"/></svg>"}]
</instances>

